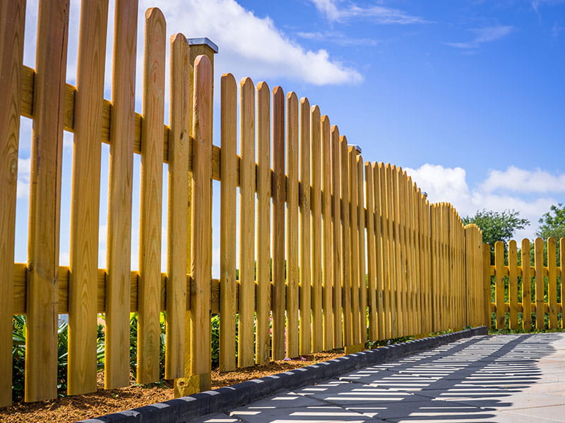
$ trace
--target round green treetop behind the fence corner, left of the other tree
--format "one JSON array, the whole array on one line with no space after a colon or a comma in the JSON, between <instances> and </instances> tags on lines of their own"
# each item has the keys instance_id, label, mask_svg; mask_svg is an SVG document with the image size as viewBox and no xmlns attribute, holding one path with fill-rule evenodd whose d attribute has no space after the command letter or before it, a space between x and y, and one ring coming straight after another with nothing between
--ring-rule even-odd
<instances>
[{"instance_id":1,"label":"round green treetop behind the fence corner, left of the other tree","mask_svg":"<svg viewBox=\"0 0 565 423\"><path fill-rule=\"evenodd\" d=\"M504 212L494 212L494 210L477 210L475 216L465 216L463 224L475 223L482 231L482 242L494 247L496 241L508 243L520 229L524 229L530 224L528 219L522 219L516 210L504 210Z\"/></svg>"}]
</instances>

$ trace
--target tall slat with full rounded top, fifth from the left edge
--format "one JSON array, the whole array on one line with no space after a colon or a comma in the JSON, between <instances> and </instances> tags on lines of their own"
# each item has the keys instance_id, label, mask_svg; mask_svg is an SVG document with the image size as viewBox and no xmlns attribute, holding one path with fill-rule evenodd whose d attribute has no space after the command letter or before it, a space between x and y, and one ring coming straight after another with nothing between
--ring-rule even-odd
<instances>
[{"instance_id":1,"label":"tall slat with full rounded top, fifth from the left edge","mask_svg":"<svg viewBox=\"0 0 565 423\"><path fill-rule=\"evenodd\" d=\"M143 128L139 223L138 384L159 380L162 214L162 121L165 94L165 18L157 8L145 12ZM193 202L194 204L194 202ZM194 245L194 244L193 244Z\"/></svg>"}]
</instances>

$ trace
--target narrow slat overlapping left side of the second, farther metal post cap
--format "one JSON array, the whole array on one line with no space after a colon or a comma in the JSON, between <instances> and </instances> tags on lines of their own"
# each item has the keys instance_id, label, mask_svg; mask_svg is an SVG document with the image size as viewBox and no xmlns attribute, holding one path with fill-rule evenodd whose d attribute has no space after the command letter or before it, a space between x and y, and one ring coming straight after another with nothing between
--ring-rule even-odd
<instances>
[{"instance_id":1,"label":"narrow slat overlapping left side of the second, farther metal post cap","mask_svg":"<svg viewBox=\"0 0 565 423\"><path fill-rule=\"evenodd\" d=\"M357 219L357 150L350 146L347 149L349 175L349 213L350 213L350 285L352 314L352 345L361 342L359 319L359 219Z\"/></svg>"}]
</instances>

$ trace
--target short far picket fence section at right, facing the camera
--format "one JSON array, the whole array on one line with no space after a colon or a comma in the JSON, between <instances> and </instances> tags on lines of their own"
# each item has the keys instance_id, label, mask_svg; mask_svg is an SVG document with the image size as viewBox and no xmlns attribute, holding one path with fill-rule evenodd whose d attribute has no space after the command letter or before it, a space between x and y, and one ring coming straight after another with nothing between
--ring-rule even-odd
<instances>
[{"instance_id":1,"label":"short far picket fence section at right, facing the camera","mask_svg":"<svg viewBox=\"0 0 565 423\"><path fill-rule=\"evenodd\" d=\"M489 251L489 248L485 248ZM493 329L563 329L565 238L515 240L494 244L494 264L485 255L485 281L491 299ZM490 316L489 316L490 317Z\"/></svg>"}]
</instances>

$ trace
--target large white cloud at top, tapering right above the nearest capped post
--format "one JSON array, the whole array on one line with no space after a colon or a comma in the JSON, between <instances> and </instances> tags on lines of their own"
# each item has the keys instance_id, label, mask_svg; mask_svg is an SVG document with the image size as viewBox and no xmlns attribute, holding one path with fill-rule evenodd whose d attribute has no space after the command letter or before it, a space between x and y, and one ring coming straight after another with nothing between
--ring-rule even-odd
<instances>
[{"instance_id":1,"label":"large white cloud at top, tapering right above the nearest capped post","mask_svg":"<svg viewBox=\"0 0 565 423\"><path fill-rule=\"evenodd\" d=\"M140 13L153 0L141 1ZM362 75L331 59L328 51L311 51L293 42L270 18L259 18L234 0L169 0L159 4L167 34L208 37L218 44L216 74L254 79L289 78L314 85L358 83Z\"/></svg>"}]
</instances>

